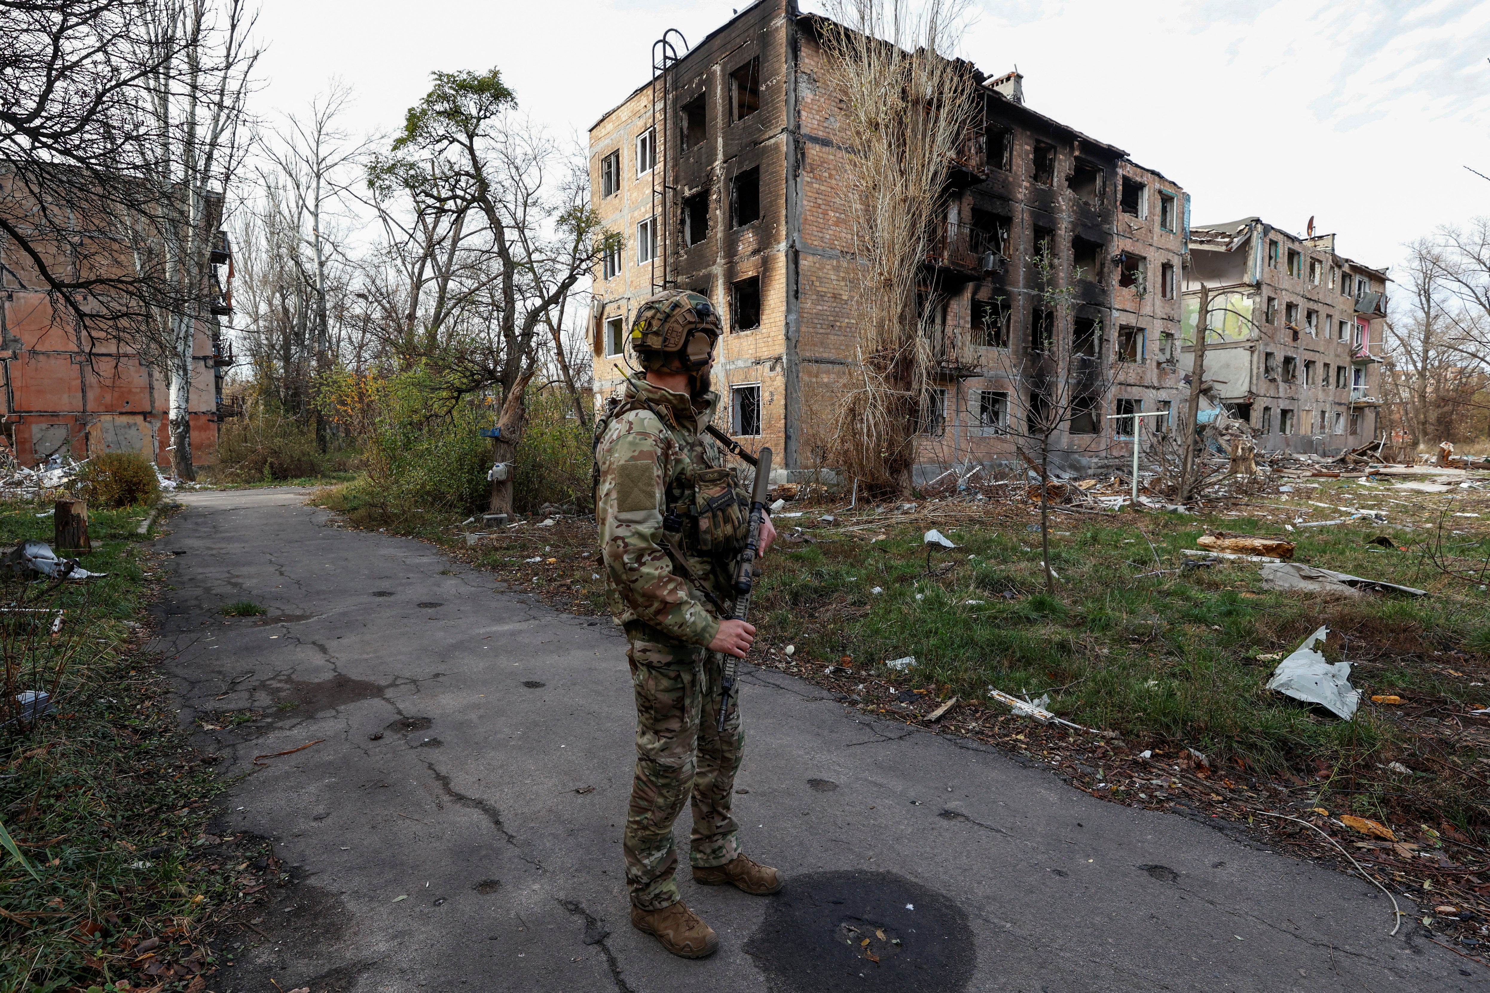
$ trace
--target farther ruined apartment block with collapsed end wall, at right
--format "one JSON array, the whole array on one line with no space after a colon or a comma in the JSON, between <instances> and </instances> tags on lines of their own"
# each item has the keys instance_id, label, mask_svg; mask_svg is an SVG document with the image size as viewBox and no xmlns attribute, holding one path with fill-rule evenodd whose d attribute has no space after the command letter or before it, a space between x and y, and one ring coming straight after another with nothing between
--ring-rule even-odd
<instances>
[{"instance_id":1,"label":"farther ruined apartment block with collapsed end wall, at right","mask_svg":"<svg viewBox=\"0 0 1490 993\"><path fill-rule=\"evenodd\" d=\"M1386 272L1337 255L1332 234L1244 217L1191 232L1186 342L1202 283L1204 381L1259 448L1334 456L1375 438Z\"/></svg>"}]
</instances>

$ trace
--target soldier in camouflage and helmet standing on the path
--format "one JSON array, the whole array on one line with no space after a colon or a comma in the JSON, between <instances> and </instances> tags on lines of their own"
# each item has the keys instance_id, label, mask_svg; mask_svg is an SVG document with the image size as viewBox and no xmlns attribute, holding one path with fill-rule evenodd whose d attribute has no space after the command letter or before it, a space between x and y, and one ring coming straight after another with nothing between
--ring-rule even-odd
<instances>
[{"instance_id":1,"label":"soldier in camouflage and helmet standing on the path","mask_svg":"<svg viewBox=\"0 0 1490 993\"><path fill-rule=\"evenodd\" d=\"M596 426L596 523L611 613L630 643L636 779L626 817L632 925L687 959L718 947L678 895L672 823L693 798L693 881L775 893L776 869L741 852L730 817L745 734L739 694L718 731L724 655L744 658L755 628L733 615L730 564L745 545L749 496L705 435L720 319L699 293L641 305L630 342L645 375L608 400ZM776 530L766 518L760 549Z\"/></svg>"}]
</instances>

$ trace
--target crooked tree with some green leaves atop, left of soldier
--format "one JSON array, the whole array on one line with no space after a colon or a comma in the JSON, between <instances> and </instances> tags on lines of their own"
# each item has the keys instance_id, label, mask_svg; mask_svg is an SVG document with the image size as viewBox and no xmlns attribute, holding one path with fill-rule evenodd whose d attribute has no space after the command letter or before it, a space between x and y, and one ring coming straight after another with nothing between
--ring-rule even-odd
<instances>
[{"instance_id":1,"label":"crooked tree with some green leaves atop, left of soldier","mask_svg":"<svg viewBox=\"0 0 1490 993\"><path fill-rule=\"evenodd\" d=\"M370 168L401 277L384 283L387 311L401 305L396 333L441 369L451 402L493 393L495 460L510 466L539 353L562 347L571 293L618 235L589 205L587 170L514 116L498 70L434 79ZM492 509L511 512L511 472L493 473Z\"/></svg>"}]
</instances>

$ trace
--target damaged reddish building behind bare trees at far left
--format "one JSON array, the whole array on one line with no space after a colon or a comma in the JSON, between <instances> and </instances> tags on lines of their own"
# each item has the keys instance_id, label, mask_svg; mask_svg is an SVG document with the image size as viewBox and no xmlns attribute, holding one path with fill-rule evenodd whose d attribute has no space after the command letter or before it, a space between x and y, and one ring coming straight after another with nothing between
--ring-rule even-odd
<instances>
[{"instance_id":1,"label":"damaged reddish building behind bare trees at far left","mask_svg":"<svg viewBox=\"0 0 1490 993\"><path fill-rule=\"evenodd\" d=\"M0 174L0 199L12 219L25 225L34 211L27 197ZM218 231L221 198L212 201L209 314L197 320L189 390L191 447L195 464L216 462L222 411L222 378L232 363L219 317L231 311L231 255L226 234ZM40 243L104 237L77 231L51 232ZM76 256L74 256L76 258ZM67 272L69 262L48 259L49 268ZM222 266L224 275L216 269ZM0 238L0 417L4 441L24 466L52 456L88 459L106 451L137 451L159 466L171 464L167 380L131 344L104 333L89 333L67 305L48 293L31 259Z\"/></svg>"}]
</instances>

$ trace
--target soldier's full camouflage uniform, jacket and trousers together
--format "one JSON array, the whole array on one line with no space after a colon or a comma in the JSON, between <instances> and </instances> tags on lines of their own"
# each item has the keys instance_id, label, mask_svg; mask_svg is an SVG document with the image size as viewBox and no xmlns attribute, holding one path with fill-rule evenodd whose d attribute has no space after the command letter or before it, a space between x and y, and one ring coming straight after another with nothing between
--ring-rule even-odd
<instances>
[{"instance_id":1,"label":"soldier's full camouflage uniform, jacket and trousers together","mask_svg":"<svg viewBox=\"0 0 1490 993\"><path fill-rule=\"evenodd\" d=\"M606 596L630 642L627 658L636 689L636 779L624 852L626 883L632 902L642 910L660 910L679 899L672 823L690 794L690 863L718 866L739 855L730 817L745 744L739 695L730 700L720 732L724 657L705 648L718 633L720 616L729 616L732 607L729 558L718 554L721 549L706 554L700 548L711 543L708 527L679 530L672 514L700 490L700 479L703 488L718 484L712 493L739 493L723 454L703 435L718 400L717 393L706 393L696 406L682 393L632 377L626 400L615 408L596 448L596 521ZM687 561L693 579L668 548Z\"/></svg>"}]
</instances>

